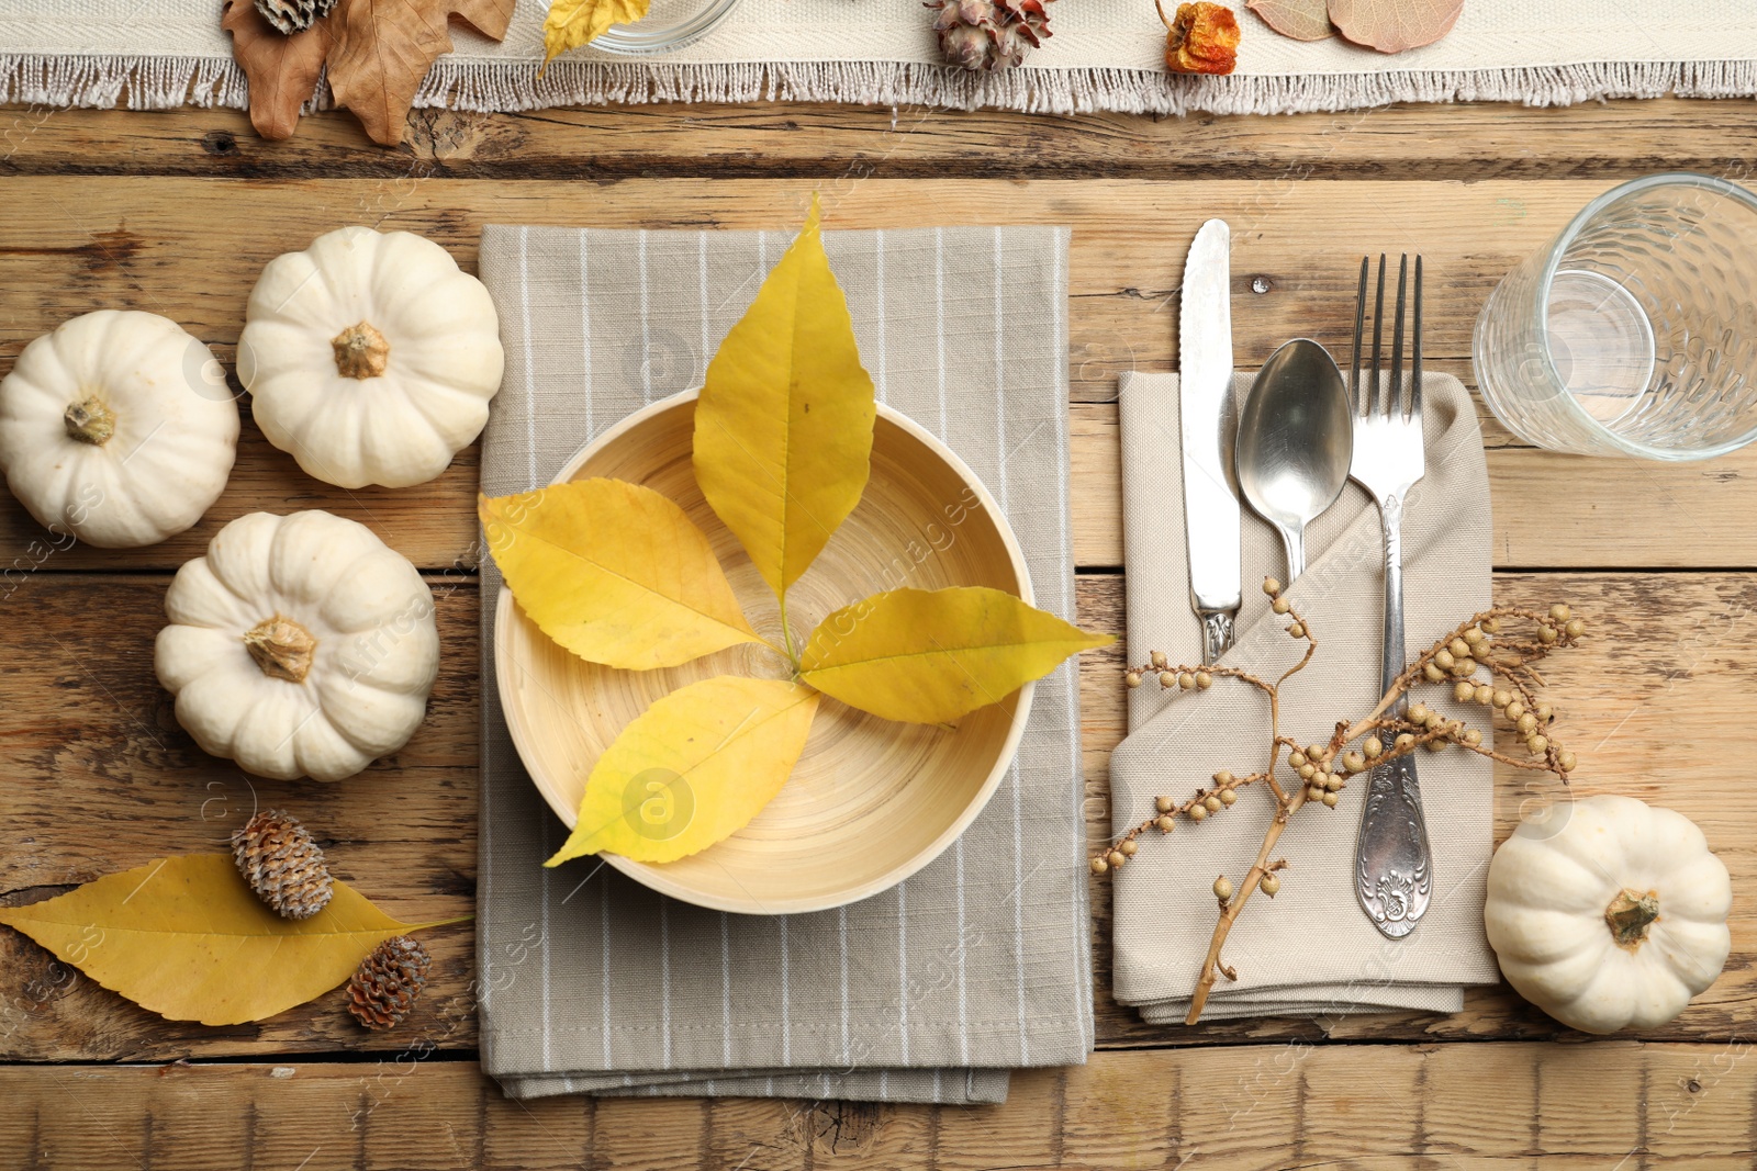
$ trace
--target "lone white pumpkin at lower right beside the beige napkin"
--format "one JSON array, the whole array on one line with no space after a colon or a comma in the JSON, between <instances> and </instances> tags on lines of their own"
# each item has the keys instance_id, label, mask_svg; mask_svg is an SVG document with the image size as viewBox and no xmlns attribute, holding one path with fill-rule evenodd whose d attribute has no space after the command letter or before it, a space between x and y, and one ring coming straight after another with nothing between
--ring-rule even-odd
<instances>
[{"instance_id":1,"label":"lone white pumpkin at lower right beside the beige napkin","mask_svg":"<svg viewBox=\"0 0 1757 1171\"><path fill-rule=\"evenodd\" d=\"M1585 1032L1652 1029L1732 950L1732 881L1681 813L1585 797L1527 818L1488 866L1483 925L1508 983Z\"/></svg>"}]
</instances>

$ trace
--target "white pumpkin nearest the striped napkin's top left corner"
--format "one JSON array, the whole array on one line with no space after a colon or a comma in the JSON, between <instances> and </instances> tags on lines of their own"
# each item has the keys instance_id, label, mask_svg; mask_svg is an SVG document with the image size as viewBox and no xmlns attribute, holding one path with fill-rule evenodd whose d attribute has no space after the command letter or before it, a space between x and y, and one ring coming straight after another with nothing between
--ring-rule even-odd
<instances>
[{"instance_id":1,"label":"white pumpkin nearest the striped napkin's top left corner","mask_svg":"<svg viewBox=\"0 0 1757 1171\"><path fill-rule=\"evenodd\" d=\"M271 260L237 342L262 434L343 488L443 472L488 421L503 363L481 281L432 241L371 228Z\"/></svg>"}]
</instances>

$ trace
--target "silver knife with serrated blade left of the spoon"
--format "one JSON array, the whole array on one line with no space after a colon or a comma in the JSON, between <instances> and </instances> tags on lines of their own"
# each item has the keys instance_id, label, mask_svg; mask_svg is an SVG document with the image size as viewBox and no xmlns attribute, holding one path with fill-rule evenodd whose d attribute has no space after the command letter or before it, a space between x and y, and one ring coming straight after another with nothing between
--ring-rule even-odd
<instances>
[{"instance_id":1,"label":"silver knife with serrated blade left of the spoon","mask_svg":"<svg viewBox=\"0 0 1757 1171\"><path fill-rule=\"evenodd\" d=\"M1184 262L1177 320L1179 425L1184 455L1184 534L1189 606L1202 618L1202 662L1232 646L1239 590L1239 497L1232 453L1232 230L1209 219Z\"/></svg>"}]
</instances>

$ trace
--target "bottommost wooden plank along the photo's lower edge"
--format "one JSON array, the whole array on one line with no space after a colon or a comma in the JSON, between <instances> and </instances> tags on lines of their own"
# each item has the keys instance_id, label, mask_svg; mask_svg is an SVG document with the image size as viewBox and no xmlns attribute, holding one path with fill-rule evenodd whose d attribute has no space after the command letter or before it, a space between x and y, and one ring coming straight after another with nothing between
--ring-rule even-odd
<instances>
[{"instance_id":1,"label":"bottommost wooden plank along the photo's lower edge","mask_svg":"<svg viewBox=\"0 0 1757 1171\"><path fill-rule=\"evenodd\" d=\"M0 1160L40 1171L1750 1167L1750 1045L1096 1053L1005 1104L513 1103L474 1062L0 1067Z\"/></svg>"}]
</instances>

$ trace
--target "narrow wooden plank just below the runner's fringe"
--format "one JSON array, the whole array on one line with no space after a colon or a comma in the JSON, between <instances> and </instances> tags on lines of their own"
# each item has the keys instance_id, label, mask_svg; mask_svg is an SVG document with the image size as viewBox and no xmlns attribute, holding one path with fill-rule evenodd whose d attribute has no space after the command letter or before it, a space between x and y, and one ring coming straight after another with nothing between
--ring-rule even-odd
<instances>
[{"instance_id":1,"label":"narrow wooden plank just below the runner's fringe","mask_svg":"<svg viewBox=\"0 0 1757 1171\"><path fill-rule=\"evenodd\" d=\"M1284 118L1038 118L919 105L625 105L522 114L415 111L399 149L332 111L264 142L239 111L0 109L0 176L237 179L452 176L627 179L1627 179L1748 174L1757 130L1725 104L1567 109L1390 105ZM1030 144L1028 147L1024 144Z\"/></svg>"}]
</instances>

